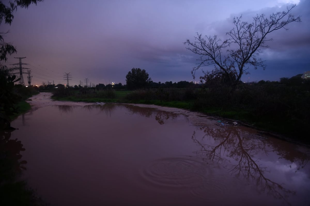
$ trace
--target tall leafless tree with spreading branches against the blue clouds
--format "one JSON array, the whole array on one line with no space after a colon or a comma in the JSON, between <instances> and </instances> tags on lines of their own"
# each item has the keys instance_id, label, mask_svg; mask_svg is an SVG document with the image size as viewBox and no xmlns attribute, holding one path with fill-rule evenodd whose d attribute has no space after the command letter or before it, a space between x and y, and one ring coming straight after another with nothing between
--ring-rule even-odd
<instances>
[{"instance_id":1,"label":"tall leafless tree with spreading branches against the blue clouds","mask_svg":"<svg viewBox=\"0 0 310 206\"><path fill-rule=\"evenodd\" d=\"M294 17L291 14L295 7L287 7L286 11L272 13L269 17L264 14L253 17L251 23L241 21L240 17L233 18L234 28L226 33L229 36L227 40L222 41L217 35L202 37L197 33L195 41L189 39L184 42L188 45L188 50L199 54L197 59L199 63L193 68L192 75L195 78L197 69L203 66L214 65L212 71L204 71L204 77L201 79L210 80L212 78L222 78L232 86L232 90L238 84L242 74L249 74L248 69L253 66L266 68L264 61L257 56L261 53L261 47L268 47L265 43L272 41L267 35L278 29L286 29L285 26L291 22L300 22L300 16Z\"/></svg>"}]
</instances>

